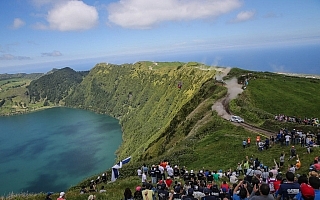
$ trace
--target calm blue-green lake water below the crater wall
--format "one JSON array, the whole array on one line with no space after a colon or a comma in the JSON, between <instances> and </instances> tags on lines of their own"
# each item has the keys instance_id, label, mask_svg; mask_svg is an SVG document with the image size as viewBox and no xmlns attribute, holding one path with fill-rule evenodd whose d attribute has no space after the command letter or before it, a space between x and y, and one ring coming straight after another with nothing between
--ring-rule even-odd
<instances>
[{"instance_id":1,"label":"calm blue-green lake water below the crater wall","mask_svg":"<svg viewBox=\"0 0 320 200\"><path fill-rule=\"evenodd\" d=\"M118 120L90 111L0 117L0 195L66 190L111 168L121 142Z\"/></svg>"}]
</instances>

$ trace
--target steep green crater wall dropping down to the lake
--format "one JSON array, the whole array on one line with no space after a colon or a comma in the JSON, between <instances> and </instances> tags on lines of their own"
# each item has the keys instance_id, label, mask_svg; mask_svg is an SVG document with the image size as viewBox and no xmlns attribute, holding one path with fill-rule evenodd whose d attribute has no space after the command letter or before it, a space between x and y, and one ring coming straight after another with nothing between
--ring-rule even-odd
<instances>
[{"instance_id":1,"label":"steep green crater wall dropping down to the lake","mask_svg":"<svg viewBox=\"0 0 320 200\"><path fill-rule=\"evenodd\" d=\"M100 63L65 102L120 120L124 134L118 156L152 158L166 150L176 126L214 91L214 75L198 63Z\"/></svg>"}]
</instances>

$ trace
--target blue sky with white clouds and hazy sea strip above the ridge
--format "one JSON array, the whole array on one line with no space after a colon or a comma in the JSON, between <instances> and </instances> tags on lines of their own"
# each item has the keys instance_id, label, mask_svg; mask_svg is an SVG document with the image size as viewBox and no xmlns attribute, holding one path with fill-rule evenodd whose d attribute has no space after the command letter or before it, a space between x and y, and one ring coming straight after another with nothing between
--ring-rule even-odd
<instances>
[{"instance_id":1,"label":"blue sky with white clouds and hazy sea strip above the ridge","mask_svg":"<svg viewBox=\"0 0 320 200\"><path fill-rule=\"evenodd\" d=\"M320 74L319 10L319 0L2 0L0 73L149 60Z\"/></svg>"}]
</instances>

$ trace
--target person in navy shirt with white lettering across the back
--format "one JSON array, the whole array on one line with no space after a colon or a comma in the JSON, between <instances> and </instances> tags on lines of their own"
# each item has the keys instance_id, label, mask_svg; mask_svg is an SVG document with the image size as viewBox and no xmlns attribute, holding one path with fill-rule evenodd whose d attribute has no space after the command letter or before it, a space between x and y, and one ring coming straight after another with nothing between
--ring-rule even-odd
<instances>
[{"instance_id":1,"label":"person in navy shirt with white lettering across the back","mask_svg":"<svg viewBox=\"0 0 320 200\"><path fill-rule=\"evenodd\" d=\"M294 174L292 172L286 173L287 182L280 185L278 190L277 200L293 199L300 192L299 183L294 182Z\"/></svg>"}]
</instances>

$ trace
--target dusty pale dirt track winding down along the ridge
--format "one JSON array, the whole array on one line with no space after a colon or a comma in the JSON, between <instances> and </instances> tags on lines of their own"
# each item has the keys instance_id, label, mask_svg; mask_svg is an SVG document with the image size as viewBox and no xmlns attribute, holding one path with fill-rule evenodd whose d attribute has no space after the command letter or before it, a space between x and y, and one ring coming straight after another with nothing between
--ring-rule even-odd
<instances>
[{"instance_id":1,"label":"dusty pale dirt track winding down along the ridge","mask_svg":"<svg viewBox=\"0 0 320 200\"><path fill-rule=\"evenodd\" d=\"M220 71L220 73L218 73L219 75L216 76L217 80L223 80L223 77L226 76L230 71L230 68L224 68L222 71ZM218 101L216 101L213 106L212 106L212 110L215 110L219 116L221 116L222 118L229 120L231 117L231 113L229 111L229 102L232 99L235 99L238 97L239 94L241 94L243 92L242 89L242 85L238 84L238 81L236 78L232 78L231 80L227 80L225 81L226 83L226 87L228 89L228 93L225 97L219 99ZM248 123L233 123L236 126L242 126L245 129L252 131L254 133L258 133L260 135L263 136L271 136L271 135L275 135L275 133L265 130L265 129L261 129L259 127L250 125Z\"/></svg>"}]
</instances>

